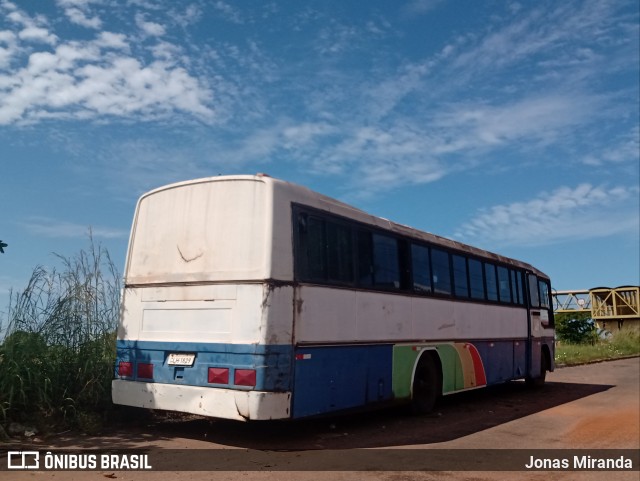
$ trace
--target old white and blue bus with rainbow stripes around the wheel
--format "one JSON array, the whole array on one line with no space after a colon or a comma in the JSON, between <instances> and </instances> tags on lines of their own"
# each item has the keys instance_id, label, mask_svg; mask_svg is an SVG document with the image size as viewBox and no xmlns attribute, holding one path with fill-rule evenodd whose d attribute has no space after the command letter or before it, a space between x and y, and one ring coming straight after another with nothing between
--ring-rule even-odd
<instances>
[{"instance_id":1,"label":"old white and blue bus with rainbow stripes around the wheel","mask_svg":"<svg viewBox=\"0 0 640 481\"><path fill-rule=\"evenodd\" d=\"M266 175L137 205L113 400L238 420L436 399L554 369L549 278Z\"/></svg>"}]
</instances>

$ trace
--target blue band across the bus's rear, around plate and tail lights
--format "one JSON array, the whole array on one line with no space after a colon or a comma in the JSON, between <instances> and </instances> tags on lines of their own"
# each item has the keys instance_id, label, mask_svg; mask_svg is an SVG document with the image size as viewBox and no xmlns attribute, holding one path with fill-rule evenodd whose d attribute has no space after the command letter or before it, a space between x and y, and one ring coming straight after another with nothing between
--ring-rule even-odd
<instances>
[{"instance_id":1,"label":"blue band across the bus's rear, around plate and tail lights","mask_svg":"<svg viewBox=\"0 0 640 481\"><path fill-rule=\"evenodd\" d=\"M259 391L291 390L293 348L290 345L119 340L116 350L116 377L119 377L120 362L133 362L133 376L125 379ZM167 364L170 353L195 353L195 361L192 366L170 366ZM153 364L153 379L138 378L139 363ZM229 384L209 384L210 367L229 369ZM234 386L236 369L255 369L256 385Z\"/></svg>"}]
</instances>

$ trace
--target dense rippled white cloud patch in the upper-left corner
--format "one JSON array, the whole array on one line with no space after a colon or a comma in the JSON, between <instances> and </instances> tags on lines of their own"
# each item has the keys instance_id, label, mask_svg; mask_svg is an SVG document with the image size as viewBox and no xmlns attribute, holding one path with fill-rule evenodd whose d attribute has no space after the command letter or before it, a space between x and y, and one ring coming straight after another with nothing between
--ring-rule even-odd
<instances>
[{"instance_id":1,"label":"dense rippled white cloud patch in the upper-left corner","mask_svg":"<svg viewBox=\"0 0 640 481\"><path fill-rule=\"evenodd\" d=\"M57 42L23 12L12 13L18 23L29 26L17 35L0 32L0 65L16 63L20 40ZM154 31L149 22L144 26ZM166 42L163 45L163 51L170 52ZM175 112L205 122L213 119L212 92L205 81L172 55L145 63L132 56L132 50L125 35L100 32L92 40L58 42L53 51L33 51L22 68L0 71L0 125L105 115L149 120Z\"/></svg>"}]
</instances>

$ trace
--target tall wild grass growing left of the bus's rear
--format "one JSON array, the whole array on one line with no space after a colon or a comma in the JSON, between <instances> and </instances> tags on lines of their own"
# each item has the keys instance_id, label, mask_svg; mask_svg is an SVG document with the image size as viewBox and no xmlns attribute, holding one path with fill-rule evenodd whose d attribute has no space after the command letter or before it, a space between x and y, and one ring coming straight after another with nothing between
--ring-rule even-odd
<instances>
[{"instance_id":1,"label":"tall wild grass growing left of the bus's rear","mask_svg":"<svg viewBox=\"0 0 640 481\"><path fill-rule=\"evenodd\" d=\"M120 276L89 233L89 248L38 266L12 292L0 345L0 423L94 429L111 407Z\"/></svg>"}]
</instances>

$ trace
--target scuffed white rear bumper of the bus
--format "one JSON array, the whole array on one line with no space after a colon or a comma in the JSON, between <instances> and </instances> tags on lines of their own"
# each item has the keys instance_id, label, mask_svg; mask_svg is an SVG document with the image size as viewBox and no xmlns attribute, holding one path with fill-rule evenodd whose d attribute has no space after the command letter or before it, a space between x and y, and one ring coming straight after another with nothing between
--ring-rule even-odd
<instances>
[{"instance_id":1,"label":"scuffed white rear bumper of the bus","mask_svg":"<svg viewBox=\"0 0 640 481\"><path fill-rule=\"evenodd\" d=\"M115 379L111 395L115 404L238 421L291 417L290 392L236 391Z\"/></svg>"}]
</instances>

